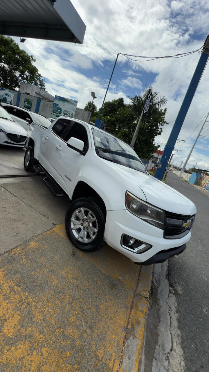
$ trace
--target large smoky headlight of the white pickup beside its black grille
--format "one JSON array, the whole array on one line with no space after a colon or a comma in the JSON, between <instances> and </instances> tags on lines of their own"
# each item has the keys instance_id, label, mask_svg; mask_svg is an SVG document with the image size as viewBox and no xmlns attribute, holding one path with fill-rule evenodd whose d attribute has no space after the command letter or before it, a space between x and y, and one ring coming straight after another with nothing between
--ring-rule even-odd
<instances>
[{"instance_id":1,"label":"large smoky headlight of the white pickup beside its black grille","mask_svg":"<svg viewBox=\"0 0 209 372\"><path fill-rule=\"evenodd\" d=\"M135 216L159 229L164 228L164 212L126 191L126 208Z\"/></svg>"}]
</instances>

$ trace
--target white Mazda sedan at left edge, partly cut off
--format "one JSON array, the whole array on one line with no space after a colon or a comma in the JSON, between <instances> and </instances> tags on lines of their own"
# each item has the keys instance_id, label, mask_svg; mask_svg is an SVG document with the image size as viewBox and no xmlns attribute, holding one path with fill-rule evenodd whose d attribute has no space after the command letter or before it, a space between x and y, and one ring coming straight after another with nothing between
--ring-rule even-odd
<instances>
[{"instance_id":1,"label":"white Mazda sedan at left edge, partly cut off","mask_svg":"<svg viewBox=\"0 0 209 372\"><path fill-rule=\"evenodd\" d=\"M0 144L24 147L27 132L12 116L0 106Z\"/></svg>"}]
</instances>

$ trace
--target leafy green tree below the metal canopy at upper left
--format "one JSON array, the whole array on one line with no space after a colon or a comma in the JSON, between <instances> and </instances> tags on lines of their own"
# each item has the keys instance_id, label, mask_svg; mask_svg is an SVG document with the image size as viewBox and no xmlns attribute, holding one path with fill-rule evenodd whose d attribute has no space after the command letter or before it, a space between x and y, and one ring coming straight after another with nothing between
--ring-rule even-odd
<instances>
[{"instance_id":1,"label":"leafy green tree below the metal canopy at upper left","mask_svg":"<svg viewBox=\"0 0 209 372\"><path fill-rule=\"evenodd\" d=\"M38 68L34 66L35 58L20 49L10 37L0 35L0 85L8 89L19 89L21 82L35 84L45 83ZM45 85L42 87L45 90Z\"/></svg>"}]
</instances>

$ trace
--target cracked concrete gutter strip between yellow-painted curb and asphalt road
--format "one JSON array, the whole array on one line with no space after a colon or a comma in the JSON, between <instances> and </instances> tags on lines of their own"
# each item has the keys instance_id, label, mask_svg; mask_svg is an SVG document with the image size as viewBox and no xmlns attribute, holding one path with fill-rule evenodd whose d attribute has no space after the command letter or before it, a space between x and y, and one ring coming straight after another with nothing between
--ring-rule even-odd
<instances>
[{"instance_id":1,"label":"cracked concrete gutter strip between yellow-painted curb and asphalt road","mask_svg":"<svg viewBox=\"0 0 209 372\"><path fill-rule=\"evenodd\" d=\"M155 265L141 372L184 372L177 302L172 292L167 262Z\"/></svg>"}]
</instances>

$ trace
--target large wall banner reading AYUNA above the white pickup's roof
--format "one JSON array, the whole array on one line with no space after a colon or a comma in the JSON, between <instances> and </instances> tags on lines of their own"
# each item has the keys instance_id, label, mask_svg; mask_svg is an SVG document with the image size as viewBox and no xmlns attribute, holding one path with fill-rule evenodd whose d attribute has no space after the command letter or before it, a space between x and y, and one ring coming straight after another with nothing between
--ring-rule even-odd
<instances>
[{"instance_id":1,"label":"large wall banner reading AYUNA above the white pickup's roof","mask_svg":"<svg viewBox=\"0 0 209 372\"><path fill-rule=\"evenodd\" d=\"M58 118L58 116L66 116L68 118L74 118L77 103L78 101L74 99L55 96L51 117Z\"/></svg>"}]
</instances>

